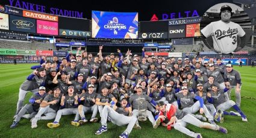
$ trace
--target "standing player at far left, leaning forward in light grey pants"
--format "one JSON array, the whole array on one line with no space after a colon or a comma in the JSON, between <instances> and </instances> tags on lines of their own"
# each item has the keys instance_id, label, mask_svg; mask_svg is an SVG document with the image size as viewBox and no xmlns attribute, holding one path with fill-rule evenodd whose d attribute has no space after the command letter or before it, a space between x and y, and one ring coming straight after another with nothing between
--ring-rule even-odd
<instances>
[{"instance_id":1,"label":"standing player at far left, leaning forward in light grey pants","mask_svg":"<svg viewBox=\"0 0 256 138\"><path fill-rule=\"evenodd\" d=\"M22 85L20 85L19 88L19 100L17 101L17 109L16 113L14 115L14 118L19 113L20 109L23 106L23 101L25 99L25 96L29 91L33 92L33 94L36 94L39 91L39 86L44 86L46 80L46 70L45 68L38 68L37 70L34 70L30 76L27 77L27 80L25 80Z\"/></svg>"}]
</instances>

